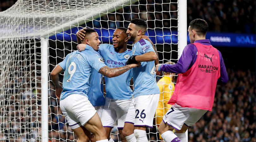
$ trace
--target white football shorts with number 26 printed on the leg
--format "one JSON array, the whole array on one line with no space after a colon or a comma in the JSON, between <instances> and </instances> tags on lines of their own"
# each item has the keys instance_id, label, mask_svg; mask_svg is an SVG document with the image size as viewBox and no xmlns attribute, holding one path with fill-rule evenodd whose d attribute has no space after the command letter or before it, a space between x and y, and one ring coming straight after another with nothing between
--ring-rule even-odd
<instances>
[{"instance_id":1,"label":"white football shorts with number 26 printed on the leg","mask_svg":"<svg viewBox=\"0 0 256 142\"><path fill-rule=\"evenodd\" d=\"M147 126L153 128L153 119L159 96L160 94L151 94L135 97L134 107L129 107L125 122L134 123L134 126Z\"/></svg>"}]
</instances>

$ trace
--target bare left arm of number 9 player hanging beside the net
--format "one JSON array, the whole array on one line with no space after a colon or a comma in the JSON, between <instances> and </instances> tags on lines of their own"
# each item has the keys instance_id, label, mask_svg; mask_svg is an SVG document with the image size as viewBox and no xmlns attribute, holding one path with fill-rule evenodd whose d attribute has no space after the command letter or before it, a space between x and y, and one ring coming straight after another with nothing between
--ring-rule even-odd
<instances>
[{"instance_id":1,"label":"bare left arm of number 9 player hanging beside the net","mask_svg":"<svg viewBox=\"0 0 256 142\"><path fill-rule=\"evenodd\" d=\"M62 91L62 87L59 84L59 77L58 75L60 73L62 73L64 70L62 69L62 67L60 65L57 65L51 72L51 78L52 78L52 83L55 86L55 95L56 97L59 99L61 91Z\"/></svg>"}]
</instances>

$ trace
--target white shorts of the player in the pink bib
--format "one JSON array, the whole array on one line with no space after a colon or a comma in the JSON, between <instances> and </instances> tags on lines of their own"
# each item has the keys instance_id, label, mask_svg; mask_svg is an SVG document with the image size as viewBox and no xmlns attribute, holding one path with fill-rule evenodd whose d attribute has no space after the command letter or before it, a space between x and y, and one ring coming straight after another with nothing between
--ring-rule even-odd
<instances>
[{"instance_id":1,"label":"white shorts of the player in the pink bib","mask_svg":"<svg viewBox=\"0 0 256 142\"><path fill-rule=\"evenodd\" d=\"M180 130L184 125L187 127L192 126L207 112L207 110L201 110L196 108L181 107L178 104L172 105L172 107L166 112L163 117L163 122L172 126L176 130Z\"/></svg>"}]
</instances>

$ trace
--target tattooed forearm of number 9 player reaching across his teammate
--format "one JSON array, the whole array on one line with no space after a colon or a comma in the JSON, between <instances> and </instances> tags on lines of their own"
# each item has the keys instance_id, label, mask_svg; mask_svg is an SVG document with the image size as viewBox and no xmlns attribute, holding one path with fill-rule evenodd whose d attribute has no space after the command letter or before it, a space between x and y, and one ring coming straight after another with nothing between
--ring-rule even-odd
<instances>
[{"instance_id":1,"label":"tattooed forearm of number 9 player reaching across his teammate","mask_svg":"<svg viewBox=\"0 0 256 142\"><path fill-rule=\"evenodd\" d=\"M130 70L131 68L135 68L138 66L140 66L140 62L138 62L137 64L125 65L125 66L118 67L118 68L109 68L108 66L103 66L99 70L99 73L101 73L104 76L109 77L109 78L117 77L117 76L125 73L126 71Z\"/></svg>"}]
</instances>

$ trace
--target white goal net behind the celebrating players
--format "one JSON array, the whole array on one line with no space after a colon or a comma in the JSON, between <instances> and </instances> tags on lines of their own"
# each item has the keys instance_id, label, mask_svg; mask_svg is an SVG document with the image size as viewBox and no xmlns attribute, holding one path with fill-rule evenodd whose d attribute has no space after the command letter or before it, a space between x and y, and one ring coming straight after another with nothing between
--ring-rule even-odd
<instances>
[{"instance_id":1,"label":"white goal net behind the celebrating players","mask_svg":"<svg viewBox=\"0 0 256 142\"><path fill-rule=\"evenodd\" d=\"M178 44L186 44L186 35L182 42L178 35L178 5L177 0L18 0L0 12L0 141L76 141L50 78L76 50L76 31L94 28L102 43L112 44L116 28L141 18L160 63L176 62ZM63 74L59 78L62 82ZM111 135L115 141L117 132ZM150 141L160 140L155 127L147 133Z\"/></svg>"}]
</instances>

